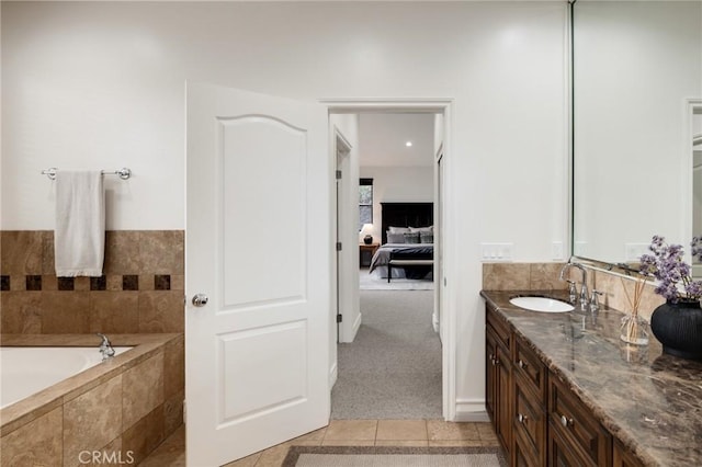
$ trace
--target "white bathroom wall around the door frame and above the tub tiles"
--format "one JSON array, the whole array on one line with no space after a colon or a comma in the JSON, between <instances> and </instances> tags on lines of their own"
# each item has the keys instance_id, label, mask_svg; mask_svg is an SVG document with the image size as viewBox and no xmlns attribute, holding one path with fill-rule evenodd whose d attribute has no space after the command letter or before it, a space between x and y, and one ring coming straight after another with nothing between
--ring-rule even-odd
<instances>
[{"instance_id":1,"label":"white bathroom wall around the door frame and above the tub tiles","mask_svg":"<svg viewBox=\"0 0 702 467\"><path fill-rule=\"evenodd\" d=\"M184 227L184 81L451 98L455 408L484 407L480 241L567 235L566 2L2 2L2 228L52 229L47 167L129 167L112 229Z\"/></svg>"}]
</instances>

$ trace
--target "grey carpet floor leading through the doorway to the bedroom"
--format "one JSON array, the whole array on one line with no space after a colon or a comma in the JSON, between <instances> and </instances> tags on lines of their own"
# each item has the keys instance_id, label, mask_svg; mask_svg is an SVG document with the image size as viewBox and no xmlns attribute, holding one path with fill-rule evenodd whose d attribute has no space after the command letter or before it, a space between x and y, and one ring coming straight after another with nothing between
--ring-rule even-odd
<instances>
[{"instance_id":1,"label":"grey carpet floor leading through the doorway to the bedroom","mask_svg":"<svg viewBox=\"0 0 702 467\"><path fill-rule=\"evenodd\" d=\"M441 341L431 291L361 291L363 321L339 344L331 418L440 419Z\"/></svg>"}]
</instances>

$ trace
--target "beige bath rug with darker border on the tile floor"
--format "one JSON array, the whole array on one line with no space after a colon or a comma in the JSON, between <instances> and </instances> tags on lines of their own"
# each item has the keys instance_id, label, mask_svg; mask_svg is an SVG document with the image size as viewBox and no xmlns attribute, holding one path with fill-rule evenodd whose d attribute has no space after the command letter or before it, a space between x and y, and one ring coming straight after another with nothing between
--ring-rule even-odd
<instances>
[{"instance_id":1,"label":"beige bath rug with darker border on the tile floor","mask_svg":"<svg viewBox=\"0 0 702 467\"><path fill-rule=\"evenodd\" d=\"M293 446L283 467L502 467L498 447Z\"/></svg>"}]
</instances>

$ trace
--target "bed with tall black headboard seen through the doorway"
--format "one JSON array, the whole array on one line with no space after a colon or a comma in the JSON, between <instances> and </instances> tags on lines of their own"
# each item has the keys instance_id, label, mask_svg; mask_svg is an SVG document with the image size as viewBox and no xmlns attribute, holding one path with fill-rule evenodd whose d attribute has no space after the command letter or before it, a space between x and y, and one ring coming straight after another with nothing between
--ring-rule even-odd
<instances>
[{"instance_id":1,"label":"bed with tall black headboard seen through the doorway","mask_svg":"<svg viewBox=\"0 0 702 467\"><path fill-rule=\"evenodd\" d=\"M381 207L383 241L371 260L369 273L388 282L405 277L431 280L433 203L381 203Z\"/></svg>"}]
</instances>

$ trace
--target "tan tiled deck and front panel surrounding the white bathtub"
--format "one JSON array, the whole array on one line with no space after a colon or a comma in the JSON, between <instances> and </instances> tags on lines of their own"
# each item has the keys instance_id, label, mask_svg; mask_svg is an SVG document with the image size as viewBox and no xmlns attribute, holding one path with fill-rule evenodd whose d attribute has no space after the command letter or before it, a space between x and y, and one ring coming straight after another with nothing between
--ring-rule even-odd
<instances>
[{"instance_id":1,"label":"tan tiled deck and front panel surrounding the white bathtub","mask_svg":"<svg viewBox=\"0 0 702 467\"><path fill-rule=\"evenodd\" d=\"M98 464L138 464L182 424L183 335L110 338L136 348L0 410L0 465L92 465L84 453L93 451L122 460ZM1 344L97 351L94 335L2 335Z\"/></svg>"}]
</instances>

